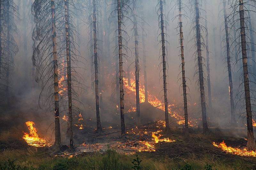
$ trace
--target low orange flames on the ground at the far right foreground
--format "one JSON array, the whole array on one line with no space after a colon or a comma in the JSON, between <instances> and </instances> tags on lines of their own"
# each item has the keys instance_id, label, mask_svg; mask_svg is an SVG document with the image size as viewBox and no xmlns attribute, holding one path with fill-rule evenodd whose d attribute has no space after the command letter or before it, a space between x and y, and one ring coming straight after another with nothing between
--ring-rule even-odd
<instances>
[{"instance_id":1,"label":"low orange flames on the ground at the far right foreground","mask_svg":"<svg viewBox=\"0 0 256 170\"><path fill-rule=\"evenodd\" d=\"M244 148L244 149L233 148L231 146L227 146L224 141L222 141L220 144L216 144L215 142L212 142L212 144L227 153L231 153L234 155L240 155L240 156L256 157L256 151L248 151L246 148Z\"/></svg>"}]
</instances>

